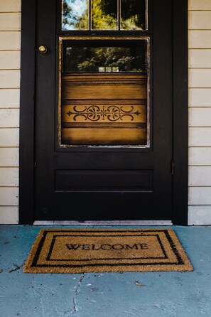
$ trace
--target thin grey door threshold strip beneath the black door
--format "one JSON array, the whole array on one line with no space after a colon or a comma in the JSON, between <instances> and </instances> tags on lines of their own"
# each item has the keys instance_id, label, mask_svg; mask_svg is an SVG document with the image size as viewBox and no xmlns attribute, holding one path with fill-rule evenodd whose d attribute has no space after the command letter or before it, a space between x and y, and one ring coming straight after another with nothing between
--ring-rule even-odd
<instances>
[{"instance_id":1,"label":"thin grey door threshold strip beneath the black door","mask_svg":"<svg viewBox=\"0 0 211 317\"><path fill-rule=\"evenodd\" d=\"M77 225L77 226L94 226L94 225L173 225L171 220L86 220L86 221L43 221L37 220L33 225Z\"/></svg>"}]
</instances>

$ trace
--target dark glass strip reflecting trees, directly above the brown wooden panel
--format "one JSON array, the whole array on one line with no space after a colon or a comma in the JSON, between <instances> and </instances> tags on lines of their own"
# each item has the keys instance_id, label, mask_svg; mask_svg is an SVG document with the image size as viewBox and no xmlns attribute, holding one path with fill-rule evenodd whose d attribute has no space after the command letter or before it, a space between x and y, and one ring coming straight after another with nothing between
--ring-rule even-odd
<instances>
[{"instance_id":1,"label":"dark glass strip reflecting trees, directly above the brown wooden panel","mask_svg":"<svg viewBox=\"0 0 211 317\"><path fill-rule=\"evenodd\" d=\"M63 72L146 72L146 40L65 41Z\"/></svg>"}]
</instances>

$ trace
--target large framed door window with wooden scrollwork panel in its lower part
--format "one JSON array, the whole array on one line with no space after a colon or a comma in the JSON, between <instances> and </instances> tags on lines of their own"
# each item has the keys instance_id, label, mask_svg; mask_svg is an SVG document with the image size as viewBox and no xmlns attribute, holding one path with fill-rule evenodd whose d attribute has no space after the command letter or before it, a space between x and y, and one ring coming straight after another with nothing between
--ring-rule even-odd
<instances>
[{"instance_id":1,"label":"large framed door window with wooden scrollwork panel in its lower part","mask_svg":"<svg viewBox=\"0 0 211 317\"><path fill-rule=\"evenodd\" d=\"M146 146L149 38L60 38L59 146Z\"/></svg>"}]
</instances>

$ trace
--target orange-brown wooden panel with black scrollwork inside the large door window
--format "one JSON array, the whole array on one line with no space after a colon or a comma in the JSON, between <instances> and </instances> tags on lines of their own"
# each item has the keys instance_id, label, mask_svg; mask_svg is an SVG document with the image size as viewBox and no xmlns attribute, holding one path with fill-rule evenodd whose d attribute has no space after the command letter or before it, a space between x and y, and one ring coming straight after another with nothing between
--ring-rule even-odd
<instances>
[{"instance_id":1,"label":"orange-brown wooden panel with black scrollwork inside the large door window","mask_svg":"<svg viewBox=\"0 0 211 317\"><path fill-rule=\"evenodd\" d=\"M62 144L146 144L146 75L62 77Z\"/></svg>"}]
</instances>

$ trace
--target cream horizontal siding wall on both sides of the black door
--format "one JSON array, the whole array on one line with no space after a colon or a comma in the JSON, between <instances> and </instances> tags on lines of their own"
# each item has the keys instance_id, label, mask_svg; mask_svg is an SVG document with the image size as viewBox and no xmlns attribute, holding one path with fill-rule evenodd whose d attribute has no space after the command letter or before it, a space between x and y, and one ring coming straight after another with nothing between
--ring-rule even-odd
<instances>
[{"instance_id":1,"label":"cream horizontal siding wall on both sides of the black door","mask_svg":"<svg viewBox=\"0 0 211 317\"><path fill-rule=\"evenodd\" d=\"M189 0L189 225L211 224L211 0ZM18 223L21 0L0 1L0 223Z\"/></svg>"}]
</instances>

